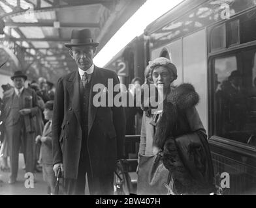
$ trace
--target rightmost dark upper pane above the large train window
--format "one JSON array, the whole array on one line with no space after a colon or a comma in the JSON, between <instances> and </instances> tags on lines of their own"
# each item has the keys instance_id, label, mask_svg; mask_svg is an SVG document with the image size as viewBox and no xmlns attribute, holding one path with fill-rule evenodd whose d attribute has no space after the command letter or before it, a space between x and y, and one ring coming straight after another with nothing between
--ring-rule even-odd
<instances>
[{"instance_id":1,"label":"rightmost dark upper pane above the large train window","mask_svg":"<svg viewBox=\"0 0 256 208\"><path fill-rule=\"evenodd\" d=\"M256 40L256 14L250 12L240 19L241 44Z\"/></svg>"}]
</instances>

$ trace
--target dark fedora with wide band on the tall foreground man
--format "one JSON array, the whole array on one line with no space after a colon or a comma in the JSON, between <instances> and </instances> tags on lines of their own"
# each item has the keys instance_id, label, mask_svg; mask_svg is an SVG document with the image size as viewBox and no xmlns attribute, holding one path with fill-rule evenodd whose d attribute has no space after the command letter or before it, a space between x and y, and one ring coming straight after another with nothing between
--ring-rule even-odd
<instances>
[{"instance_id":1,"label":"dark fedora with wide band on the tall foreground man","mask_svg":"<svg viewBox=\"0 0 256 208\"><path fill-rule=\"evenodd\" d=\"M80 45L92 45L93 47L97 47L99 43L93 42L91 31L89 29L83 29L81 31L72 30L71 42L64 45L69 48Z\"/></svg>"}]
</instances>

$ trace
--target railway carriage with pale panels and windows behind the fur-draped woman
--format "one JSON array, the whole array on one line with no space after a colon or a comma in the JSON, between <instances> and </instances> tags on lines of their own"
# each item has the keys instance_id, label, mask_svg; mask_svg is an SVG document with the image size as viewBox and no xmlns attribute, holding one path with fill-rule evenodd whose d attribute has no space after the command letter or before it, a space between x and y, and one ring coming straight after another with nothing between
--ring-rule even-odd
<instances>
[{"instance_id":1,"label":"railway carriage with pale panels and windows behind the fur-draped woman","mask_svg":"<svg viewBox=\"0 0 256 208\"><path fill-rule=\"evenodd\" d=\"M143 77L148 61L157 57L177 66L174 85L191 83L199 93L197 110L223 194L255 193L255 1L182 1L148 25L108 67L118 72L116 60L123 60L127 73L120 78L127 85Z\"/></svg>"}]
</instances>

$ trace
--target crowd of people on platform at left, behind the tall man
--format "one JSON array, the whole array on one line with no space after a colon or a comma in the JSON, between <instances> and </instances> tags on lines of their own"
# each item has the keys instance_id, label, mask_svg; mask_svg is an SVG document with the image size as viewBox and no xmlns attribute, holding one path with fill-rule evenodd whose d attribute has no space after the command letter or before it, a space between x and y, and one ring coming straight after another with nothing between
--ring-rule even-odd
<instances>
[{"instance_id":1,"label":"crowd of people on platform at left, behind the tall man","mask_svg":"<svg viewBox=\"0 0 256 208\"><path fill-rule=\"evenodd\" d=\"M16 183L19 153L23 153L25 166L22 168L25 172L43 172L50 194L54 182L49 180L52 177L45 166L50 165L52 170L52 162L45 156L52 158L51 138L48 135L51 133L49 123L52 120L54 84L44 77L38 81L27 81L27 75L21 71L14 72L11 79L13 85L1 86L1 171L10 172L9 184Z\"/></svg>"}]
</instances>

